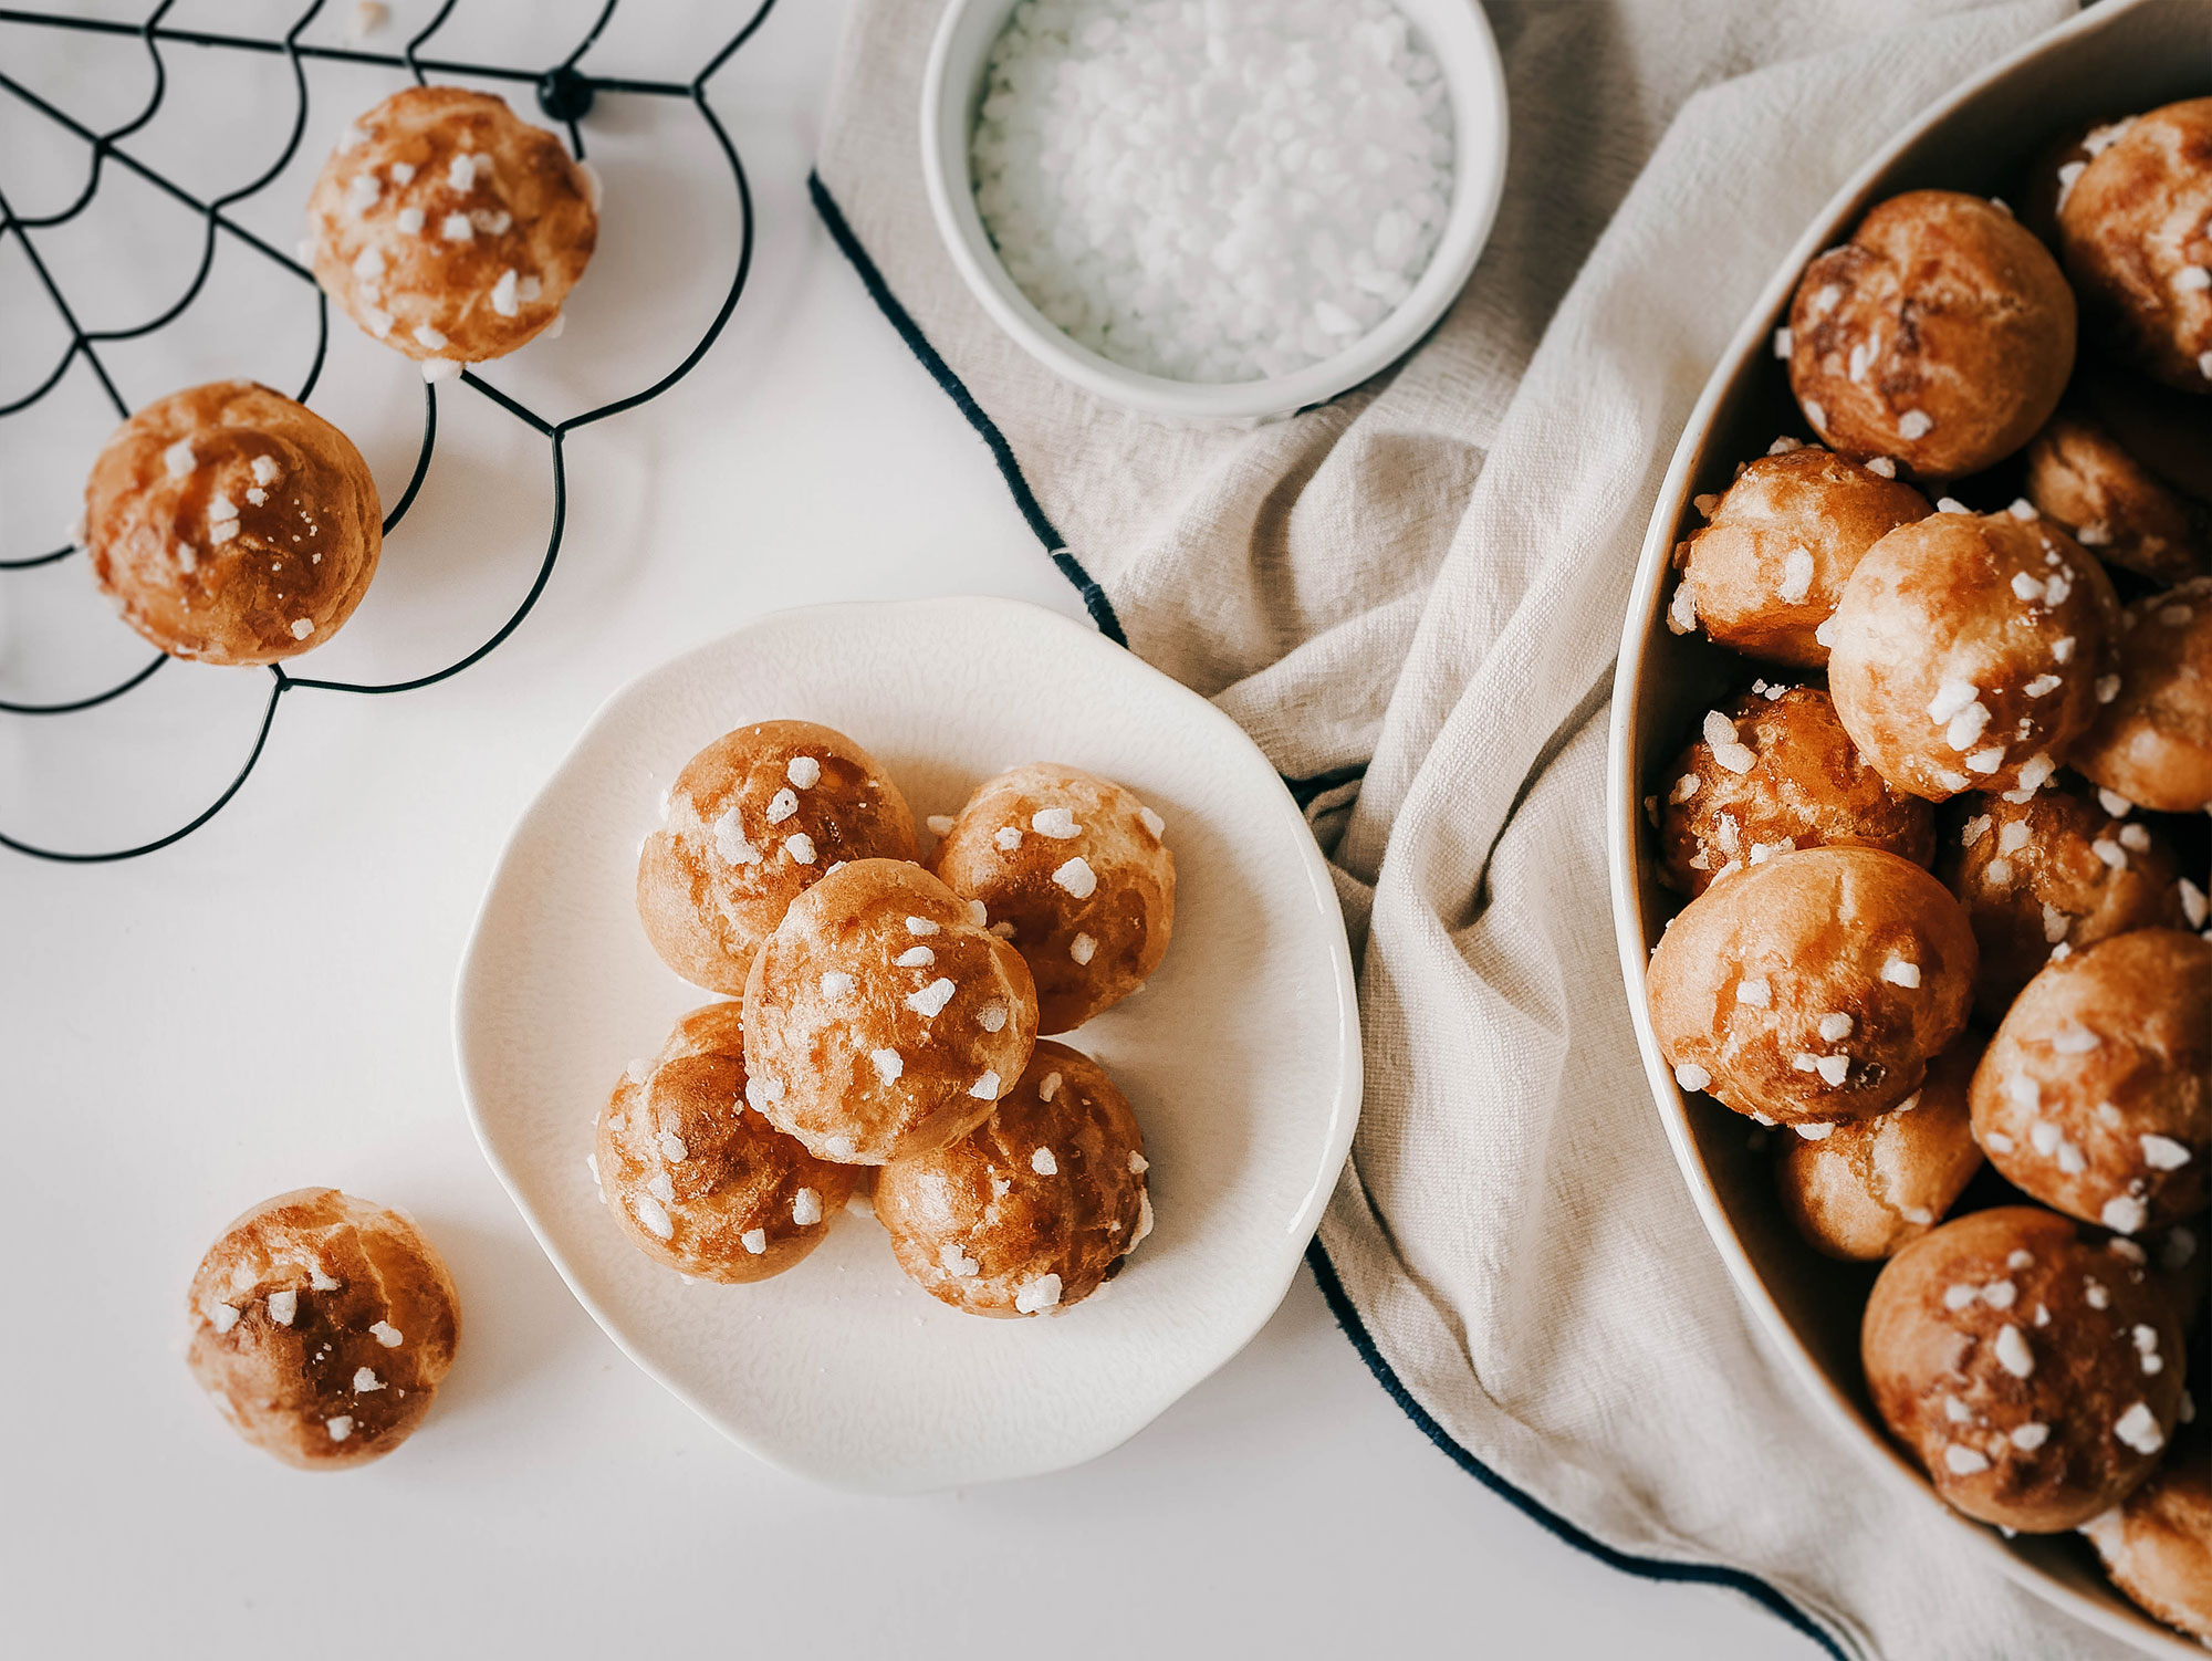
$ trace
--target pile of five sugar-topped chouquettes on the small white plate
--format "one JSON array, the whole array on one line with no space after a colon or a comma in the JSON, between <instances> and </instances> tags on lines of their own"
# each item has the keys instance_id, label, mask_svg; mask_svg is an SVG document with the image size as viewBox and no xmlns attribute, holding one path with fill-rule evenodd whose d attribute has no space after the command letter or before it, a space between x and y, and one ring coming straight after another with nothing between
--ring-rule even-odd
<instances>
[{"instance_id":1,"label":"pile of five sugar-topped chouquettes on the small white plate","mask_svg":"<svg viewBox=\"0 0 2212 1661\"><path fill-rule=\"evenodd\" d=\"M684 1015L595 1121L591 1177L646 1256L765 1281L872 1205L931 1296L1040 1316L1152 1230L1128 1101L1040 1033L1128 997L1168 951L1159 814L1031 765L929 829L925 867L889 774L807 721L723 734L670 785L637 916L730 1002Z\"/></svg>"}]
</instances>

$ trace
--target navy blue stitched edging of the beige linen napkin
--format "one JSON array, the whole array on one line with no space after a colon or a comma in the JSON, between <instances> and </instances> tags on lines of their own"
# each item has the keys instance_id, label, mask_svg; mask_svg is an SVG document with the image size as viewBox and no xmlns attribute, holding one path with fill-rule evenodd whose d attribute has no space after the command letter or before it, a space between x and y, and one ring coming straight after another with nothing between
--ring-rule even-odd
<instances>
[{"instance_id":1,"label":"navy blue stitched edging of the beige linen napkin","mask_svg":"<svg viewBox=\"0 0 2212 1661\"><path fill-rule=\"evenodd\" d=\"M1022 511L1022 518L1029 520L1029 529L1037 533L1037 542L1042 542L1046 553L1051 553L1053 564L1060 566L1060 573L1075 584L1075 591L1084 599L1084 608L1091 613L1091 621L1095 621L1099 633L1106 635L1106 639L1110 639L1115 646L1128 646L1128 637L1121 633L1121 619L1115 617L1113 599L1108 599L1106 591L1099 588L1097 582L1093 582L1091 573L1084 571L1082 562L1073 553L1068 553L1068 546L1062 540L1060 531L1053 526L1044 509L1037 504L1035 491L1029 489L1029 480L1022 478L1022 464L1013 458L1013 447L1006 442L1006 436L998 429L998 422L993 422L982 411L982 405L978 405L975 396L960 383L960 376L951 372L951 365L947 365L945 358L938 356L938 349L929 345L929 338L907 314L907 307L902 307L898 299L891 294L889 283L883 281L883 272L876 270L876 261L867 257L867 250L860 246L860 239L854 237L852 226L845 221L845 212L836 206L836 197L830 195L830 188L821 181L818 173L807 175L807 192L814 197L814 212L818 212L823 226L830 228L830 239L838 246L838 252L843 252L845 259L852 261L854 272L860 274L860 283L863 288L867 288L869 299L876 301L876 310L880 310L883 316L889 318L891 327L898 330L898 338L907 343L907 349L916 358L920 358L922 367L929 369L929 376L945 389L945 396L953 400L960 414L967 416L969 427L973 427L982 438L982 442L991 449L991 460L998 462L1000 478L1004 478L1006 489L1013 491L1013 504ZM1323 790L1329 790L1332 785L1338 783L1347 783L1349 779L1360 776L1360 772L1363 767L1338 767L1334 772L1318 774L1316 779L1310 781L1292 779L1287 783L1292 787L1292 794L1298 796L1298 805L1303 807ZM1367 1362L1367 1371L1376 1376L1376 1382L1383 1385L1383 1391L1394 1402L1398 1402L1398 1407L1405 1411L1409 1420L1413 1420L1413 1424L1420 1429L1422 1435L1427 1435L1453 1464L1467 1471L1467 1475L1471 1475L1484 1488L1495 1493L1506 1504L1515 1506L1524 1517L1548 1528L1568 1546L1588 1553L1601 1564L1610 1564L1624 1575L1641 1575L1646 1579L1661 1579L1661 1581L1701 1581L1705 1586L1725 1586L1730 1590L1743 1592L1754 1603L1759 1603L1761 1608L1770 1610L1772 1615L1781 1617L1798 1632L1809 1637L1814 1643L1818 1643L1823 1650L1836 1657L1836 1661L1851 1661L1843 1652L1843 1648L1838 1648L1836 1639L1832 1639L1820 1626L1816 1626L1812 1617L1807 1617L1796 1603L1776 1592L1756 1575L1747 1575L1741 1568L1714 1568L1710 1564L1670 1564L1659 1557L1630 1557L1628 1553L1615 1550L1595 1535L1584 1533L1566 1517L1562 1517L1557 1511L1542 1504L1535 1495L1522 1493L1502 1475L1491 1471L1491 1466L1486 1466L1473 1453L1453 1442L1451 1433L1444 1431L1442 1424L1429 1418L1429 1411L1413 1400L1413 1393L1398 1380L1398 1373L1391 1371L1391 1365L1383 1360L1383 1351L1376 1349L1374 1338L1367 1336L1367 1327L1360 1325L1360 1316L1352 1307L1352 1298L1345 1296L1343 1281L1336 1278L1336 1265L1329 1263L1329 1254L1321 1250L1318 1239L1312 1245L1307 1245L1305 1261L1314 1270L1314 1281L1321 1283L1321 1296L1327 1298L1329 1312L1336 1316L1336 1325L1343 1329L1345 1338L1352 1340L1352 1349L1358 1351L1358 1358L1363 1362Z\"/></svg>"}]
</instances>

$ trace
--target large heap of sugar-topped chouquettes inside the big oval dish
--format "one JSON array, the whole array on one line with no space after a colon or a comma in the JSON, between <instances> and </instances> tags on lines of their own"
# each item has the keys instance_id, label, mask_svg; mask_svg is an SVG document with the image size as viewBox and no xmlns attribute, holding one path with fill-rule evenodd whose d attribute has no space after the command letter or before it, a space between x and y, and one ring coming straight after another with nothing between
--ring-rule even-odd
<instances>
[{"instance_id":1,"label":"large heap of sugar-topped chouquettes inside the big oval dish","mask_svg":"<svg viewBox=\"0 0 2212 1661\"><path fill-rule=\"evenodd\" d=\"M1882 1265L1867 1391L1936 1491L2212 1641L2212 100L2020 201L1812 261L1816 442L1697 498L1668 626L1754 664L1646 783L1648 995L1686 1090L1790 1128L1798 1232Z\"/></svg>"}]
</instances>

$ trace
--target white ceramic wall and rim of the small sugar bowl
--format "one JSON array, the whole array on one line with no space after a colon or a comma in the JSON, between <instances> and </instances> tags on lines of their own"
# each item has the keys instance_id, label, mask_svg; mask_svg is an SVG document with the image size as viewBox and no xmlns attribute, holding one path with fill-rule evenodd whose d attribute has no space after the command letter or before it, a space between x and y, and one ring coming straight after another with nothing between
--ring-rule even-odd
<instances>
[{"instance_id":1,"label":"white ceramic wall and rim of the small sugar bowl","mask_svg":"<svg viewBox=\"0 0 2212 1661\"><path fill-rule=\"evenodd\" d=\"M922 177L938 234L969 292L1037 363L1084 391L1148 416L1267 420L1327 403L1405 356L1467 285L1498 215L1506 179L1506 77L1498 42L1473 0L1394 0L1429 42L1451 93L1451 210L1429 268L1383 323L1336 356L1265 380L1170 380L1141 374L1086 345L1029 303L1006 274L975 210L969 137L982 102L982 71L1015 0L951 0L922 71Z\"/></svg>"}]
</instances>

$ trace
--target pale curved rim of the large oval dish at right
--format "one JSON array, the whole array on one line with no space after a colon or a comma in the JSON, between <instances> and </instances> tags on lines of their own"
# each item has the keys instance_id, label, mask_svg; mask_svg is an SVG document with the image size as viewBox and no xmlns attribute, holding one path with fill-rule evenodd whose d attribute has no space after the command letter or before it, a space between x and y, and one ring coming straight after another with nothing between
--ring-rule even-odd
<instances>
[{"instance_id":1,"label":"pale curved rim of the large oval dish at right","mask_svg":"<svg viewBox=\"0 0 2212 1661\"><path fill-rule=\"evenodd\" d=\"M1637 557L1637 577L1628 599L1628 615L1621 630L1621 652L1613 677L1613 719L1606 756L1606 863L1610 867L1613 924L1621 955L1621 975L1628 991L1628 1011L1635 1024L1644 1073L1659 1106L1659 1117L1666 1124L1668 1146L1674 1152L1674 1163L1681 1170L1683 1185L1690 1190L1690 1199L1697 1205L1699 1221L1712 1239L1714 1250L1719 1250L1721 1261L1728 1265L1728 1276L1736 1287L1736 1296L1781 1351L1798 1393L1812 1400L1832 1424L1845 1431L1847 1440L1860 1449L1865 1462L1880 1471L1882 1480L1893 1491L1911 1493L1918 1504L1940 1511L1953 1531L1969 1539L1971 1548L1978 1550L1984 1561L2004 1573L2006 1579L2031 1590L2046 1603L2062 1608L2073 1619L2106 1637L2119 1639L2148 1654L2172 1654L2179 1659L2190 1654L2201 1657L2203 1650L2179 1632L2154 1621L2148 1612L2139 1612L2132 1601L2126 1601L2119 1595L2117 1588L2108 1595L2108 1601L2099 1601L2008 1546L1995 1528L1944 1504L1918 1466L1913 1466L1905 1453L1860 1413L1858 1404L1840 1391L1836 1380L1829 1378L1829 1373L1814 1358L1812 1349L1796 1334L1790 1318L1776 1303L1774 1292L1767 1287L1765 1274L1739 1234L1728 1203L1721 1199L1714 1177L1705 1166L1697 1130L1690 1121L1688 1099L1659 1053L1659 1040L1652 1031L1650 1006L1644 991L1648 942L1641 920L1641 894L1646 882L1637 852L1641 840L1641 818L1635 756L1637 734L1644 725L1646 657L1652 635L1663 626L1659 617L1659 595L1672 568L1672 549L1677 540L1674 531L1681 522L1699 464L1705 460L1703 451L1708 438L1723 409L1728 409L1730 400L1736 396L1739 378L1756 363L1759 354L1767 349L1776 314L1783 312L1790 294L1796 290L1798 276L1820 248L1832 246L1882 190L1909 188L1902 184L1893 186L1889 175L1907 159L1916 144L1958 117L1964 106L2011 80L2024 66L2053 53L2066 53L2077 40L2095 35L2115 22L2124 22L2130 11L2132 9L2126 4L2088 9L2077 18L2035 35L1982 73L1969 77L1951 93L1936 100L1891 142L1876 150L1858 170L1854 170L1843 188L1820 206L1812 223L1783 257L1778 270L1752 301L1743 325L1721 352L1712 376L1699 391L1697 405L1683 425L1674 456L1668 462L1666 478L1659 484L1655 511Z\"/></svg>"}]
</instances>

